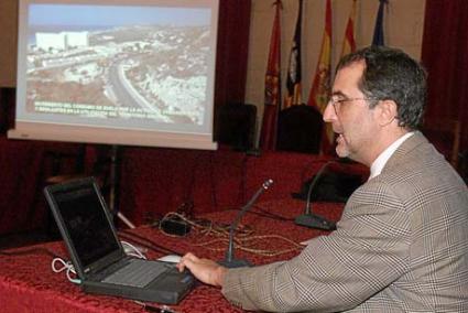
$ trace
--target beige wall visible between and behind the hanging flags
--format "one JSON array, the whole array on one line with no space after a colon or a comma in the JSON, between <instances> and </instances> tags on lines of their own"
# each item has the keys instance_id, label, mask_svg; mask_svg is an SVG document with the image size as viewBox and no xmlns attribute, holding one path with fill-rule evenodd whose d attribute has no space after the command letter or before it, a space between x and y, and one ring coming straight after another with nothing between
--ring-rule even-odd
<instances>
[{"instance_id":1,"label":"beige wall visible between and behind the hanging flags","mask_svg":"<svg viewBox=\"0 0 468 313\"><path fill-rule=\"evenodd\" d=\"M281 17L281 67L282 95L284 97L287 60L296 23L298 0L282 0ZM264 75L270 37L274 18L273 0L252 0L250 21L249 64L247 73L246 102L258 106L258 125L263 115ZM317 66L325 22L325 0L304 0L302 25L302 99L307 101ZM333 64L341 53L345 28L352 0L331 0ZM355 19L355 39L358 47L372 41L379 0L358 0ZM421 58L424 28L425 0L389 0L384 12L385 45L403 48L413 57Z\"/></svg>"}]
</instances>

